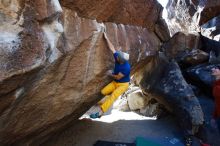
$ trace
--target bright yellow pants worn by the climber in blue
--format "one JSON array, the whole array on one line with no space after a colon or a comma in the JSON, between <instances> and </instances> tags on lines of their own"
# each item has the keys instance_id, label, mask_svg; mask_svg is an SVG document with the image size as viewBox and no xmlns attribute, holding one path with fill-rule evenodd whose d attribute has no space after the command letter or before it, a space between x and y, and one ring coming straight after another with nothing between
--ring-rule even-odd
<instances>
[{"instance_id":1,"label":"bright yellow pants worn by the climber in blue","mask_svg":"<svg viewBox=\"0 0 220 146\"><path fill-rule=\"evenodd\" d=\"M100 107L103 112L107 112L108 109L112 106L114 101L122 95L128 89L129 83L119 83L112 81L107 86L105 86L101 93L106 96L104 103L100 104Z\"/></svg>"}]
</instances>

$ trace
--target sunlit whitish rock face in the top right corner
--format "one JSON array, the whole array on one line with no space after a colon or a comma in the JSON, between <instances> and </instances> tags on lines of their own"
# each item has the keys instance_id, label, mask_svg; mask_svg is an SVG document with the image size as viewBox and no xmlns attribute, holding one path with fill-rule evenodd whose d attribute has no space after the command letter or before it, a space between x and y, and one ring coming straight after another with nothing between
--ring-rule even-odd
<instances>
[{"instance_id":1,"label":"sunlit whitish rock face in the top right corner","mask_svg":"<svg viewBox=\"0 0 220 146\"><path fill-rule=\"evenodd\" d=\"M167 5L171 34L200 30L200 25L220 14L219 0L169 0Z\"/></svg>"}]
</instances>

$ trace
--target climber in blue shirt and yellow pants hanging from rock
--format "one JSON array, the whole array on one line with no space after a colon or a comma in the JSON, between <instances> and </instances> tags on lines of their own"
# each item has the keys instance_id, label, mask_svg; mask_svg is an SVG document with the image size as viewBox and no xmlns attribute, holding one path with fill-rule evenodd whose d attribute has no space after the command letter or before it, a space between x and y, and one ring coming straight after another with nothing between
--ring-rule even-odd
<instances>
[{"instance_id":1,"label":"climber in blue shirt and yellow pants hanging from rock","mask_svg":"<svg viewBox=\"0 0 220 146\"><path fill-rule=\"evenodd\" d=\"M99 105L97 112L90 115L91 118L99 118L103 113L107 112L114 101L128 89L130 81L129 54L116 51L105 33L104 38L109 49L114 54L115 68L114 71L109 74L114 78L114 81L102 89L101 93L106 96L105 101Z\"/></svg>"}]
</instances>

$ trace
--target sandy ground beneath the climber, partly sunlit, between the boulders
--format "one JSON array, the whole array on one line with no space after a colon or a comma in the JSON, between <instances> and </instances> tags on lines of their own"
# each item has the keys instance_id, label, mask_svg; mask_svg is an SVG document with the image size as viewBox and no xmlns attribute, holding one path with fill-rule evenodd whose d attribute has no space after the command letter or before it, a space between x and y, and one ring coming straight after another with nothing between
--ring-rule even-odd
<instances>
[{"instance_id":1,"label":"sandy ground beneath the climber, partly sunlit, between the boulders","mask_svg":"<svg viewBox=\"0 0 220 146\"><path fill-rule=\"evenodd\" d=\"M155 117L116 109L96 120L87 119L86 116L43 145L92 146L97 140L132 143L136 137L144 137L159 141L164 146L183 146L180 129L172 116L156 120Z\"/></svg>"}]
</instances>

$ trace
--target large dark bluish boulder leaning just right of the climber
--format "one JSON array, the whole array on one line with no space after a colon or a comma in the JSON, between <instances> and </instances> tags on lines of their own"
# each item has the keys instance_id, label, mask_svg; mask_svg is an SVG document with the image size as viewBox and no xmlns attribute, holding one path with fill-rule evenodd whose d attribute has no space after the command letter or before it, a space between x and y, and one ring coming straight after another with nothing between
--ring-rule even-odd
<instances>
[{"instance_id":1,"label":"large dark bluish boulder leaning just right of the climber","mask_svg":"<svg viewBox=\"0 0 220 146\"><path fill-rule=\"evenodd\" d=\"M145 94L167 102L185 134L195 134L204 117L197 97L182 76L178 64L159 57L150 71L145 71L140 86ZM196 127L196 128L195 128Z\"/></svg>"}]
</instances>

